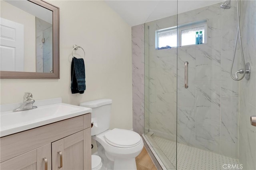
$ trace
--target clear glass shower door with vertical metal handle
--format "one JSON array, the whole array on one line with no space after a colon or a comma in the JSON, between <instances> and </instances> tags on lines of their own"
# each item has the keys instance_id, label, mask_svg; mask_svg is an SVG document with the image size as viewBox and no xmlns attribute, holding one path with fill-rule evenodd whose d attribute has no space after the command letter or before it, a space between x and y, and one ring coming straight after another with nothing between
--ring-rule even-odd
<instances>
[{"instance_id":1,"label":"clear glass shower door with vertical metal handle","mask_svg":"<svg viewBox=\"0 0 256 170\"><path fill-rule=\"evenodd\" d=\"M250 125L256 114L256 40L249 38L256 36L256 2L238 2L245 61L254 65L250 80L241 81L230 77L234 50L233 75L242 68L239 41L235 49L237 4L227 1L230 8L222 9L224 2L217 2L178 1L178 170L256 169L256 128ZM204 7L194 6L200 3ZM194 9L184 9L188 5Z\"/></svg>"}]
</instances>

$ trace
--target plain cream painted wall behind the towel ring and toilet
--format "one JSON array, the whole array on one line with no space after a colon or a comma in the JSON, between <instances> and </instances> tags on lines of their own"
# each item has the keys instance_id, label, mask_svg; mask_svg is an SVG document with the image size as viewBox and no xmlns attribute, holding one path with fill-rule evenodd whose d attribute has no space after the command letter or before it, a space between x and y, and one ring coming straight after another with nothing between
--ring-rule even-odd
<instances>
[{"instance_id":1,"label":"plain cream painted wall behind the towel ring and toilet","mask_svg":"<svg viewBox=\"0 0 256 170\"><path fill-rule=\"evenodd\" d=\"M1 104L61 97L64 103L110 98L110 128L132 129L131 27L104 1L48 1L60 8L60 79L1 79ZM86 91L71 94L72 46L86 52ZM74 54L83 54L81 49ZM78 57L78 55L75 55Z\"/></svg>"}]
</instances>

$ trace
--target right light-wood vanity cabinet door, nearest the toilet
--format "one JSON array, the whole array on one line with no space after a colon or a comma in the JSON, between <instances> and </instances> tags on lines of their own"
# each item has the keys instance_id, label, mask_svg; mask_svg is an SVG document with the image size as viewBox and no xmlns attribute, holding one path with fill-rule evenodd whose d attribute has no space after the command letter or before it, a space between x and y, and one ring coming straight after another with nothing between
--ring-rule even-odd
<instances>
[{"instance_id":1,"label":"right light-wood vanity cabinet door, nearest the toilet","mask_svg":"<svg viewBox=\"0 0 256 170\"><path fill-rule=\"evenodd\" d=\"M88 128L52 143L53 170L91 169L90 131Z\"/></svg>"}]
</instances>

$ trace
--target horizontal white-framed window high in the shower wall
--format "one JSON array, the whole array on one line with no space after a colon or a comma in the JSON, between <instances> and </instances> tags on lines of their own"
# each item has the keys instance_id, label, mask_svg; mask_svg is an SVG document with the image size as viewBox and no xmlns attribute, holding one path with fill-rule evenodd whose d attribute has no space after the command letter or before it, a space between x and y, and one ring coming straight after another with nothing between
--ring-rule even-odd
<instances>
[{"instance_id":1,"label":"horizontal white-framed window high in the shower wall","mask_svg":"<svg viewBox=\"0 0 256 170\"><path fill-rule=\"evenodd\" d=\"M156 31L156 49L178 47L184 45L196 45L196 32L202 31L203 43L207 42L207 21L186 23ZM178 36L177 36L178 33ZM178 38L178 41L177 41Z\"/></svg>"}]
</instances>

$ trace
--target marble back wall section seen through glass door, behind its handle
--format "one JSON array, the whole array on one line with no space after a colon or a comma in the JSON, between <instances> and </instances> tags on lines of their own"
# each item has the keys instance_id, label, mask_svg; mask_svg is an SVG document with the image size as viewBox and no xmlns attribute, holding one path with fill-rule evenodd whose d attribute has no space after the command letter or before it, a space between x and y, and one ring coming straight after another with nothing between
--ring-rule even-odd
<instances>
[{"instance_id":1,"label":"marble back wall section seen through glass door, behind its handle","mask_svg":"<svg viewBox=\"0 0 256 170\"><path fill-rule=\"evenodd\" d=\"M178 15L178 25L207 20L207 43L178 48L177 139L179 143L238 158L239 84L230 78L236 6L214 4ZM240 50L236 51L240 57ZM184 88L184 62L189 84ZM234 63L234 70L238 69ZM179 71L180 70L180 71Z\"/></svg>"}]
</instances>

